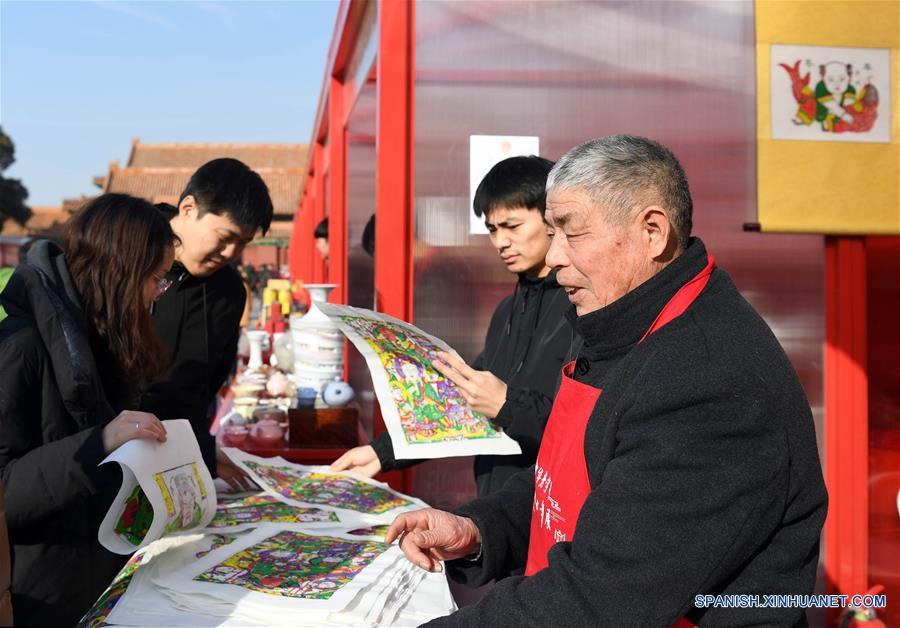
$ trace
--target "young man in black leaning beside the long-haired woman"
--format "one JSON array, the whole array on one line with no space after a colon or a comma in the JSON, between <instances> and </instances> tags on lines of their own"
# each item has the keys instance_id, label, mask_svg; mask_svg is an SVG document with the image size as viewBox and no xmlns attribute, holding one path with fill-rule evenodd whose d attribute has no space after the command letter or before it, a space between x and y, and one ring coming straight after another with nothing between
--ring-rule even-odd
<instances>
[{"instance_id":1,"label":"young man in black leaning beside the long-haired woman","mask_svg":"<svg viewBox=\"0 0 900 628\"><path fill-rule=\"evenodd\" d=\"M244 476L216 455L209 433L216 393L235 364L246 302L231 262L258 232L265 234L272 213L262 177L242 162L222 158L201 166L169 215L180 242L166 275L172 286L153 312L172 365L147 390L141 409L160 419L188 419L210 472L233 485Z\"/></svg>"}]
</instances>

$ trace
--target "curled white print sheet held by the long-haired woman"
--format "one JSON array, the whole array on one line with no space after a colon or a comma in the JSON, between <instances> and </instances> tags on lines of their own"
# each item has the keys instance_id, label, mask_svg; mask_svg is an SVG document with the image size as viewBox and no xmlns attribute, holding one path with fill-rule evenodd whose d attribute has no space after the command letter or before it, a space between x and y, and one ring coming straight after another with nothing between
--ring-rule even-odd
<instances>
[{"instance_id":1,"label":"curled white print sheet held by the long-haired woman","mask_svg":"<svg viewBox=\"0 0 900 628\"><path fill-rule=\"evenodd\" d=\"M216 512L212 477L190 423L163 425L165 443L128 441L100 463L122 467L122 486L97 532L111 552L129 554L164 534L203 528Z\"/></svg>"}]
</instances>

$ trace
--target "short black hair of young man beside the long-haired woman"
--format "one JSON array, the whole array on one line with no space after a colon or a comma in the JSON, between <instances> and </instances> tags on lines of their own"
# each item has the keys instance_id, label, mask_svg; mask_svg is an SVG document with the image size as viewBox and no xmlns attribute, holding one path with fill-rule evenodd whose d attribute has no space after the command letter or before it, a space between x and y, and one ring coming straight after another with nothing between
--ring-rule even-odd
<instances>
[{"instance_id":1,"label":"short black hair of young man beside the long-haired woman","mask_svg":"<svg viewBox=\"0 0 900 628\"><path fill-rule=\"evenodd\" d=\"M209 161L191 175L178 204L193 196L202 216L211 212L228 216L242 229L254 233L269 230L272 222L272 199L262 177L245 163L223 157Z\"/></svg>"}]
</instances>

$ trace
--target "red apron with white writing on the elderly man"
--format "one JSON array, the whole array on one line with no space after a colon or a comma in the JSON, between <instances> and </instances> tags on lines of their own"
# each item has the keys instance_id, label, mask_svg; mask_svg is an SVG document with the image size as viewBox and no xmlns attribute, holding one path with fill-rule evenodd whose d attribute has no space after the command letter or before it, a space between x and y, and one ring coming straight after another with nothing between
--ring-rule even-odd
<instances>
[{"instance_id":1,"label":"red apron with white writing on the elderly man","mask_svg":"<svg viewBox=\"0 0 900 628\"><path fill-rule=\"evenodd\" d=\"M641 341L684 313L706 287L715 266L713 256L708 255L706 267L666 303ZM563 367L562 383L534 466L534 509L526 576L547 566L547 552L554 543L572 540L578 514L591 492L584 460L584 431L602 391L572 379L574 366L570 362ZM682 622L676 626L692 625Z\"/></svg>"}]
</instances>

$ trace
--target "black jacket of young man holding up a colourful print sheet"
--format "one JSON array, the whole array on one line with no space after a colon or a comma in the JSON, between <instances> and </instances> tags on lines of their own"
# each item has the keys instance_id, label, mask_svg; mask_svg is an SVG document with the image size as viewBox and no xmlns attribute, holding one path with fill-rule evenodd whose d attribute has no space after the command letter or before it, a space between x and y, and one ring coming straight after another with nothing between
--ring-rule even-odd
<instances>
[{"instance_id":1,"label":"black jacket of young man holding up a colourful print sheet","mask_svg":"<svg viewBox=\"0 0 900 628\"><path fill-rule=\"evenodd\" d=\"M563 359L572 342L572 327L565 319L568 309L569 300L556 282L556 273L535 279L519 275L515 292L500 302L491 317L484 349L471 366L490 371L506 383L506 403L493 422L519 443L522 453L475 456L479 496L499 490L537 458ZM376 438L372 447L385 471L421 462L395 460L387 432Z\"/></svg>"}]
</instances>

